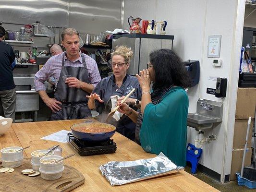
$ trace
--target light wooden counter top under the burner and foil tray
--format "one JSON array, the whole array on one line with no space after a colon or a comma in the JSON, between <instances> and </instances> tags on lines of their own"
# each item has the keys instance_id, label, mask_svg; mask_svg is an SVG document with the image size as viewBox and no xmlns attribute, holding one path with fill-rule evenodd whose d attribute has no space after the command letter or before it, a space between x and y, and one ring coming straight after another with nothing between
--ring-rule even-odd
<instances>
[{"instance_id":1,"label":"light wooden counter top under the burner and foil tray","mask_svg":"<svg viewBox=\"0 0 256 192\"><path fill-rule=\"evenodd\" d=\"M30 148L25 149L25 154L31 157L32 151L47 149L57 144L57 142L41 140L40 138L61 130L70 130L71 125L82 121L13 123L12 129L0 137L0 147L30 145ZM150 180L111 186L106 178L102 176L98 168L100 165L109 161L134 161L156 156L146 153L141 146L118 132L114 134L113 139L117 144L117 151L114 154L97 156L79 156L68 143L59 143L62 147L62 156L76 154L76 156L66 159L65 164L73 166L85 177L85 183L74 189L73 192L218 192L218 190L185 171Z\"/></svg>"}]
</instances>

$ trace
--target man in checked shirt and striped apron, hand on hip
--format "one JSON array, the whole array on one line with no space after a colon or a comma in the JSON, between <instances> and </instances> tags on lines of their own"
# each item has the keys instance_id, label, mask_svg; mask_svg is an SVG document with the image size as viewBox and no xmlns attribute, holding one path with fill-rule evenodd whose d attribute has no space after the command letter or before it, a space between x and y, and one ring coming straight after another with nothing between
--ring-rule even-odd
<instances>
[{"instance_id":1,"label":"man in checked shirt and striped apron, hand on hip","mask_svg":"<svg viewBox=\"0 0 256 192\"><path fill-rule=\"evenodd\" d=\"M51 57L36 73L34 87L52 110L51 120L84 119L91 116L86 95L90 95L101 80L98 66L79 50L79 34L75 29L65 29L61 38L66 51ZM51 76L57 82L55 98L49 98L44 86Z\"/></svg>"}]
</instances>

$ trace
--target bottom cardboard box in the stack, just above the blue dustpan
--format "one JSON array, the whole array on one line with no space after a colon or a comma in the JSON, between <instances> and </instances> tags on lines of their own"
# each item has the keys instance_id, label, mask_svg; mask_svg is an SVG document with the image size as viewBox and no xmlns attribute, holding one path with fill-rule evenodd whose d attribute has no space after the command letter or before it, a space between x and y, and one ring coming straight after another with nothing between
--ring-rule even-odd
<instances>
[{"instance_id":1,"label":"bottom cardboard box in the stack, just above the blue dustpan","mask_svg":"<svg viewBox=\"0 0 256 192\"><path fill-rule=\"evenodd\" d=\"M244 149L233 149L232 150L230 180L236 180L235 173L241 173L243 155L244 155ZM246 149L244 166L251 165L251 158L252 158L252 148L250 147L250 148Z\"/></svg>"}]
</instances>

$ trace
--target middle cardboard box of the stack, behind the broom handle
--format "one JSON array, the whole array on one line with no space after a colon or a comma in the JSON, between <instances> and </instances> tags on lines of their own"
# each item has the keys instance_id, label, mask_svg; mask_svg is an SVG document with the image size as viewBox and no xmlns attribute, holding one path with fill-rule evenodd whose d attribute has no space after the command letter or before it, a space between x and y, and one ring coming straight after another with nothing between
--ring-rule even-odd
<instances>
[{"instance_id":1,"label":"middle cardboard box of the stack, behind the broom handle","mask_svg":"<svg viewBox=\"0 0 256 192\"><path fill-rule=\"evenodd\" d=\"M253 122L251 120L249 138L248 138L248 147L252 144L252 132L253 132ZM246 133L247 133L247 124L248 120L235 120L234 127L234 139L233 139L233 149L242 149L244 148Z\"/></svg>"}]
</instances>

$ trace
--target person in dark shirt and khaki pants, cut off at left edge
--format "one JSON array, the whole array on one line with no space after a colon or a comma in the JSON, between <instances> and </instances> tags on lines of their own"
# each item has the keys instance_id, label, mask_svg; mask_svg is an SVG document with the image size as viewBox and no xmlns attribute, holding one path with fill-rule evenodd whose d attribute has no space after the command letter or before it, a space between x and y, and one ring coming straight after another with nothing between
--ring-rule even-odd
<instances>
[{"instance_id":1,"label":"person in dark shirt and khaki pants, cut off at left edge","mask_svg":"<svg viewBox=\"0 0 256 192\"><path fill-rule=\"evenodd\" d=\"M15 55L12 47L4 42L5 30L0 26L0 108L4 117L15 119L16 92L12 70L15 65Z\"/></svg>"}]
</instances>

